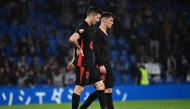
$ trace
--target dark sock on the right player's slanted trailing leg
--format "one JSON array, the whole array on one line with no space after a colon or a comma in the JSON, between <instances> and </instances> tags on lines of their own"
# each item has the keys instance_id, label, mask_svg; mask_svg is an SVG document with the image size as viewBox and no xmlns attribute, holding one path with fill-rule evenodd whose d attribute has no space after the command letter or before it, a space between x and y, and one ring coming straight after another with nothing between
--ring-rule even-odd
<instances>
[{"instance_id":1,"label":"dark sock on the right player's slanted trailing leg","mask_svg":"<svg viewBox=\"0 0 190 109\"><path fill-rule=\"evenodd\" d=\"M90 106L90 104L96 100L97 98L97 92L94 91L93 93L91 93L88 98L85 100L85 102L80 106L80 109L86 109Z\"/></svg>"}]
</instances>

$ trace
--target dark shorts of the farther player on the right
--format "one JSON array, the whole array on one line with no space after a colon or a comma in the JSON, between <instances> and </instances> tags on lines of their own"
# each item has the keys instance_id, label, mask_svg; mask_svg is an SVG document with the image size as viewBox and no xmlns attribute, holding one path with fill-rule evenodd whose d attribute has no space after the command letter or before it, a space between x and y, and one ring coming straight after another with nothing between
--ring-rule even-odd
<instances>
[{"instance_id":1,"label":"dark shorts of the farther player on the right","mask_svg":"<svg viewBox=\"0 0 190 109\"><path fill-rule=\"evenodd\" d=\"M104 65L106 68L106 74L100 74L101 79L104 82L105 89L107 88L113 88L114 87L114 79L112 74L112 68L111 65ZM99 66L96 65L96 68L99 69Z\"/></svg>"}]
</instances>

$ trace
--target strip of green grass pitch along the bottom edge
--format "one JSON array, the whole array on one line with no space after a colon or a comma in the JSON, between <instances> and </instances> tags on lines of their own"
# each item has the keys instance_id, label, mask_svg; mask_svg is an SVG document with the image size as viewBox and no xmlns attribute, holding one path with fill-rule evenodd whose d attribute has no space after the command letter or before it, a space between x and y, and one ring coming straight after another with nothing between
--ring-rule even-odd
<instances>
[{"instance_id":1,"label":"strip of green grass pitch along the bottom edge","mask_svg":"<svg viewBox=\"0 0 190 109\"><path fill-rule=\"evenodd\" d=\"M190 109L190 99L114 102L115 109ZM0 109L71 109L71 103L0 106ZM88 109L100 109L94 102Z\"/></svg>"}]
</instances>

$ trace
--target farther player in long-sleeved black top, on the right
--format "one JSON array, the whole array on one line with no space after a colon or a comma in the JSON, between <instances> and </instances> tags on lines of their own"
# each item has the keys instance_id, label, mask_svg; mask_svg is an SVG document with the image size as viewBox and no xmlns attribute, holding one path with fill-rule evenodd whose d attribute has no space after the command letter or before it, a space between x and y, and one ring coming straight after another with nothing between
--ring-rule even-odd
<instances>
[{"instance_id":1,"label":"farther player in long-sleeved black top, on the right","mask_svg":"<svg viewBox=\"0 0 190 109\"><path fill-rule=\"evenodd\" d=\"M93 49L95 54L95 63L101 74L101 79L105 84L105 94L108 109L114 109L112 100L113 75L110 65L110 37L106 30L113 25L114 15L110 12L103 12L101 15L101 24L93 33ZM97 91L94 91L80 109L86 109L97 98Z\"/></svg>"}]
</instances>

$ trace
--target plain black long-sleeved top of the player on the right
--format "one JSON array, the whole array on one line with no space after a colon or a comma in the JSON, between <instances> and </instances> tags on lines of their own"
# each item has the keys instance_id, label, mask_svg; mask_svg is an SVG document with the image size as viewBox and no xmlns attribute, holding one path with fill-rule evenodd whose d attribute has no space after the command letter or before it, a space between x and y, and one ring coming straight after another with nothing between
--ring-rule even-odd
<instances>
[{"instance_id":1,"label":"plain black long-sleeved top of the player on the right","mask_svg":"<svg viewBox=\"0 0 190 109\"><path fill-rule=\"evenodd\" d=\"M93 33L95 62L99 66L109 64L110 61L110 37L100 28Z\"/></svg>"}]
</instances>

